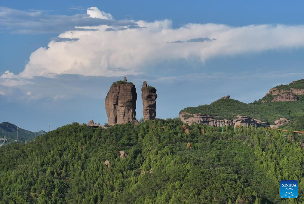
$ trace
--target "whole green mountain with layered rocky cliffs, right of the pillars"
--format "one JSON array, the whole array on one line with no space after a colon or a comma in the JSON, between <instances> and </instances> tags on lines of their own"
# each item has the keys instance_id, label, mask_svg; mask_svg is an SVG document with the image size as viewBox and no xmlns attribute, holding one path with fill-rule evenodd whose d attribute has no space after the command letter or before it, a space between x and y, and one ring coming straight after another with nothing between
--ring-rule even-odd
<instances>
[{"instance_id":1,"label":"whole green mountain with layered rocky cliffs, right of the pillars","mask_svg":"<svg viewBox=\"0 0 304 204\"><path fill-rule=\"evenodd\" d=\"M260 100L246 104L230 96L180 111L181 121L211 126L253 125L304 130L304 80L271 88Z\"/></svg>"}]
</instances>

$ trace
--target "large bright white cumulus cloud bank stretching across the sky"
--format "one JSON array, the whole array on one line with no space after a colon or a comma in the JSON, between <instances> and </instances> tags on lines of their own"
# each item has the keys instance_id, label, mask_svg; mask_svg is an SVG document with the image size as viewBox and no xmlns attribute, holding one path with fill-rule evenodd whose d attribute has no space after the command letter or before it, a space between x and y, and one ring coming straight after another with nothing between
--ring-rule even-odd
<instances>
[{"instance_id":1,"label":"large bright white cumulus cloud bank stretching across the sky","mask_svg":"<svg viewBox=\"0 0 304 204\"><path fill-rule=\"evenodd\" d=\"M116 22L112 15L96 7L88 9L87 14ZM145 73L147 65L162 60L195 59L204 63L217 56L303 47L303 33L304 25L232 27L189 23L173 28L168 19L77 26L73 31L62 32L57 37L61 40L51 40L48 47L33 52L19 75L7 71L1 78L55 77L63 73L134 75Z\"/></svg>"}]
</instances>

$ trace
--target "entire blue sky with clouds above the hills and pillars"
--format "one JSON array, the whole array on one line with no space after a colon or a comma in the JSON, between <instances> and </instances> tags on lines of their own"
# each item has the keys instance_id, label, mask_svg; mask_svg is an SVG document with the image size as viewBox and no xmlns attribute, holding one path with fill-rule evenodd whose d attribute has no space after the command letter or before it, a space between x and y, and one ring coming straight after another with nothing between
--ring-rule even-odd
<instances>
[{"instance_id":1,"label":"entire blue sky with clouds above the hills and pillars","mask_svg":"<svg viewBox=\"0 0 304 204\"><path fill-rule=\"evenodd\" d=\"M0 121L31 131L105 123L105 96L125 75L137 88L137 118L144 80L157 88L157 117L167 118L224 95L249 103L304 78L302 1L0 6Z\"/></svg>"}]
</instances>

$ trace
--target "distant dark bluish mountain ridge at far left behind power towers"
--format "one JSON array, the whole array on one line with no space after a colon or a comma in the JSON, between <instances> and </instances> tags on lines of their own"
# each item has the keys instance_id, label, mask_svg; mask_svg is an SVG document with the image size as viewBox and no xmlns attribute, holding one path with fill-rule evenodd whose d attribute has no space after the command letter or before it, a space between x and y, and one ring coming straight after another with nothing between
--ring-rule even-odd
<instances>
[{"instance_id":1,"label":"distant dark bluish mountain ridge at far left behind power towers","mask_svg":"<svg viewBox=\"0 0 304 204\"><path fill-rule=\"evenodd\" d=\"M8 143L15 141L17 139L17 127L18 126L9 122L0 123L0 138L3 138L4 135L6 135ZM45 133L46 131L43 130L39 132L32 132L19 128L19 141L31 141L37 136L43 135Z\"/></svg>"}]
</instances>

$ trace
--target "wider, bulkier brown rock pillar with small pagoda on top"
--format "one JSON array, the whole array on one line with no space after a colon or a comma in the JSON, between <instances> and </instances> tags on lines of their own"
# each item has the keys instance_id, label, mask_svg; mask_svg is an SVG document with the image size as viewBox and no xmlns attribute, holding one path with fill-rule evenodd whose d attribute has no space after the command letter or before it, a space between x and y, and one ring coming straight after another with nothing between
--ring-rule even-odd
<instances>
[{"instance_id":1,"label":"wider, bulkier brown rock pillar with small pagoda on top","mask_svg":"<svg viewBox=\"0 0 304 204\"><path fill-rule=\"evenodd\" d=\"M105 98L108 124L138 123L136 120L137 94L135 85L125 81L113 83Z\"/></svg>"}]
</instances>

